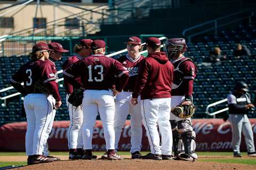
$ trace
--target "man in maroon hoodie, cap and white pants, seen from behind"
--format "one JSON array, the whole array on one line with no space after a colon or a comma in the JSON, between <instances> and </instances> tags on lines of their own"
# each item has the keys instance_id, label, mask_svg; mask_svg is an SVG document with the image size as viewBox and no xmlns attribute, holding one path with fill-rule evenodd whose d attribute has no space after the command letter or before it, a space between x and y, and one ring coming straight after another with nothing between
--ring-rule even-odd
<instances>
[{"instance_id":1,"label":"man in maroon hoodie, cap and white pants, seen from behind","mask_svg":"<svg viewBox=\"0 0 256 170\"><path fill-rule=\"evenodd\" d=\"M142 121L148 135L151 152L142 159L172 159L172 130L170 125L171 84L173 65L165 53L160 52L161 41L150 37L146 40L148 56L140 62L131 103L138 104L141 95ZM161 132L160 146L157 124Z\"/></svg>"}]
</instances>

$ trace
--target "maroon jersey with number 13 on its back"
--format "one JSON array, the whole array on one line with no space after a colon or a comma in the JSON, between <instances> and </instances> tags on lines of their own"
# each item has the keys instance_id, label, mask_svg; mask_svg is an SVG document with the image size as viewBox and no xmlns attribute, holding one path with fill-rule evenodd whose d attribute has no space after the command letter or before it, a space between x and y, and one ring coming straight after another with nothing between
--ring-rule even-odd
<instances>
[{"instance_id":1,"label":"maroon jersey with number 13 on its back","mask_svg":"<svg viewBox=\"0 0 256 170\"><path fill-rule=\"evenodd\" d=\"M118 75L119 79L115 86L116 90L122 91L129 79L129 73L121 63L102 54L94 54L79 60L65 70L63 74L67 78L69 77L69 80L81 77L83 88L91 90L113 88L115 75ZM72 84L79 88L79 82L78 84Z\"/></svg>"}]
</instances>

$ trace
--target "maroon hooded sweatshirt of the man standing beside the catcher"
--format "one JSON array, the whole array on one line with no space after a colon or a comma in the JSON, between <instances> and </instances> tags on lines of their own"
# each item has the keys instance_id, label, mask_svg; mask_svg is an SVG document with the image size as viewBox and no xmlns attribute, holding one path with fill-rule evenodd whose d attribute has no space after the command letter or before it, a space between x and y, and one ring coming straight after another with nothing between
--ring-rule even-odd
<instances>
[{"instance_id":1,"label":"maroon hooded sweatshirt of the man standing beside the catcher","mask_svg":"<svg viewBox=\"0 0 256 170\"><path fill-rule=\"evenodd\" d=\"M171 85L174 67L165 53L148 54L140 62L140 71L137 77L133 98L153 99L171 97Z\"/></svg>"}]
</instances>

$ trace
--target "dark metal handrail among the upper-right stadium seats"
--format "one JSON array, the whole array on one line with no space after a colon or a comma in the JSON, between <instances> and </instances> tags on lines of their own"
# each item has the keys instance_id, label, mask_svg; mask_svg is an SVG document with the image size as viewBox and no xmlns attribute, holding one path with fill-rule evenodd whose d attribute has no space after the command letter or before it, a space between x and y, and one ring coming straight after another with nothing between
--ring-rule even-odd
<instances>
[{"instance_id":1,"label":"dark metal handrail among the upper-right stadium seats","mask_svg":"<svg viewBox=\"0 0 256 170\"><path fill-rule=\"evenodd\" d=\"M246 16L241 16L242 14L246 14ZM182 35L184 37L187 37L188 42L191 43L191 38L192 37L202 35L205 32L209 32L209 31L214 30L214 35L217 35L218 34L218 28L224 27L226 25L230 25L230 24L235 23L235 22L242 21L244 19L249 19L249 23L251 23L251 17L253 15L254 15L254 13L252 11L250 11L249 9L242 10L242 11L239 11L239 12L236 12L236 13L233 13L233 14L222 16L220 18L217 18L217 19L214 19L214 20L211 20L211 21L208 21L208 22L204 22L202 24L195 25L194 27L191 27L191 28L187 28L187 29L182 31ZM239 17L239 18L237 18L237 17ZM236 19L234 19L234 18L236 18ZM223 20L228 20L228 21L225 22ZM224 23L220 23L221 21L224 22ZM210 26L210 28L206 28L207 26ZM198 31L197 29L200 29L200 28L202 28L203 30ZM196 33L191 33L191 35L187 35L188 31L193 31L193 30L196 31Z\"/></svg>"}]
</instances>

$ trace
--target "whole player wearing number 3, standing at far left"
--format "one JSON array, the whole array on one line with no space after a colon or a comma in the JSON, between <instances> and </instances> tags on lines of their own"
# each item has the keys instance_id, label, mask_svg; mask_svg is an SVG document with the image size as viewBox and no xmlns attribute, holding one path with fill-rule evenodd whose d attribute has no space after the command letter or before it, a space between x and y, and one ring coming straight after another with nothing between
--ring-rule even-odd
<instances>
[{"instance_id":1,"label":"whole player wearing number 3, standing at far left","mask_svg":"<svg viewBox=\"0 0 256 170\"><path fill-rule=\"evenodd\" d=\"M53 118L53 108L61 106L58 84L55 82L51 65L45 62L50 51L45 43L34 45L31 61L21 66L10 79L12 86L25 96L28 165L53 161L43 155L44 145L49 136L46 134L47 128ZM24 82L24 87L21 82Z\"/></svg>"}]
</instances>

